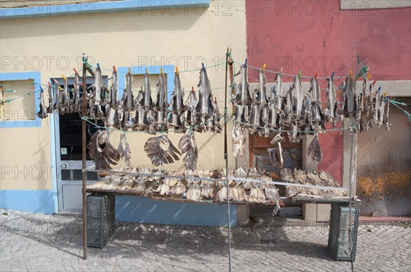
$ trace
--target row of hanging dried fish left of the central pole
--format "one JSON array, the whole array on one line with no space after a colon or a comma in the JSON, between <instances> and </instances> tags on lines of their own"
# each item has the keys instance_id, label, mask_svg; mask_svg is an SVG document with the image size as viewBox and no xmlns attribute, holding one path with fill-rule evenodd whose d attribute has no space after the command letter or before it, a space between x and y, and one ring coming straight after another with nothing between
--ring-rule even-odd
<instances>
[{"instance_id":1,"label":"row of hanging dried fish left of the central pole","mask_svg":"<svg viewBox=\"0 0 411 272\"><path fill-rule=\"evenodd\" d=\"M125 75L126 87L120 100L117 100L118 72L112 72L112 85L110 89L103 83L101 68L95 69L95 83L88 87L86 92L86 116L95 120L103 120L105 126L114 127L123 131L147 131L151 134L172 129L178 133L186 130L211 131L221 133L219 106L211 91L210 80L206 69L200 70L199 97L194 88L188 95L188 101L184 102L184 90L179 79L179 72L175 72L174 90L171 103L166 99L166 76L162 72L157 84L157 99L151 98L149 73L144 74L142 90L137 95L133 94L133 77L131 72ZM49 106L45 107L43 92L40 92L40 111L38 116L46 118L47 113L56 110L59 114L75 113L82 111L82 99L80 96L79 74L75 74L73 90L69 90L67 79L64 79L64 87L54 80L54 87L49 85ZM54 90L54 92L53 92Z\"/></svg>"}]
</instances>

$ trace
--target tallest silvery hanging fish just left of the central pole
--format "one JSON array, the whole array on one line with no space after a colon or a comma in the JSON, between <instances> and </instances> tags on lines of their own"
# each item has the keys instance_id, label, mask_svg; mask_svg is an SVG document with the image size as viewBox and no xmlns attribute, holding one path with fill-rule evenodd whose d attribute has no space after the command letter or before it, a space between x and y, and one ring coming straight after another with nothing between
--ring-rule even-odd
<instances>
[{"instance_id":1,"label":"tallest silvery hanging fish just left of the central pole","mask_svg":"<svg viewBox=\"0 0 411 272\"><path fill-rule=\"evenodd\" d=\"M206 130L206 125L210 122L214 113L210 80L208 79L205 68L200 70L200 83L198 87L199 103L197 103L196 112L201 126L199 126L197 130L202 132Z\"/></svg>"}]
</instances>

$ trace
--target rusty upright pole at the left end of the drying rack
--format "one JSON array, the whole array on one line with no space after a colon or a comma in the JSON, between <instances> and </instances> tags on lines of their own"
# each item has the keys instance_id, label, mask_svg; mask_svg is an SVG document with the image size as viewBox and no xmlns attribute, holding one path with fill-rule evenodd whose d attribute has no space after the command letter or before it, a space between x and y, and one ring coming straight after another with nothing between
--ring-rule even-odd
<instances>
[{"instance_id":1,"label":"rusty upright pole at the left end of the drying rack","mask_svg":"<svg viewBox=\"0 0 411 272\"><path fill-rule=\"evenodd\" d=\"M82 94L82 117L86 117L86 95L87 95L87 54L83 53L83 94ZM83 128L82 128L82 179L83 179L83 186L82 186L82 193L83 193L83 253L84 253L84 260L87 259L87 202L86 202L86 120L83 119Z\"/></svg>"}]
</instances>

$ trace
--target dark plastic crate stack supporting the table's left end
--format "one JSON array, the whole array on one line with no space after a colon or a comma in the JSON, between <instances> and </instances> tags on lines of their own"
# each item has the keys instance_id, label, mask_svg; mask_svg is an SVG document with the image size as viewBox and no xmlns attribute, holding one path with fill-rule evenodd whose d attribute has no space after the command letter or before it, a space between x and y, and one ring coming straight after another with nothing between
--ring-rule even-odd
<instances>
[{"instance_id":1,"label":"dark plastic crate stack supporting the table's left end","mask_svg":"<svg viewBox=\"0 0 411 272\"><path fill-rule=\"evenodd\" d=\"M87 246L103 248L114 238L115 196L87 196Z\"/></svg>"}]
</instances>

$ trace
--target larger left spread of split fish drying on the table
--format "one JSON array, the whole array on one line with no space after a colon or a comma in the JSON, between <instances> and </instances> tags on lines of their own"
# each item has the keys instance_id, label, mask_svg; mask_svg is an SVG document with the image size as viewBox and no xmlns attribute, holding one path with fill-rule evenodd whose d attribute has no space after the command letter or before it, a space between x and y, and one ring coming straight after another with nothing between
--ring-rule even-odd
<instances>
[{"instance_id":1,"label":"larger left spread of split fish drying on the table","mask_svg":"<svg viewBox=\"0 0 411 272\"><path fill-rule=\"evenodd\" d=\"M225 181L214 180L225 176L223 169L190 170L179 169L166 172L160 169L121 167L98 182L88 185L88 189L126 190L142 195L179 195L186 200L216 200L227 201L227 185ZM127 174L128 173L128 174ZM153 174L153 176L150 176ZM156 176L157 175L157 176ZM160 177L160 175L171 177ZM250 181L236 181L231 178L248 178ZM276 204L275 213L282 201L271 178L260 173L256 168L238 168L229 172L229 200L234 202L252 202L261 204Z\"/></svg>"}]
</instances>

